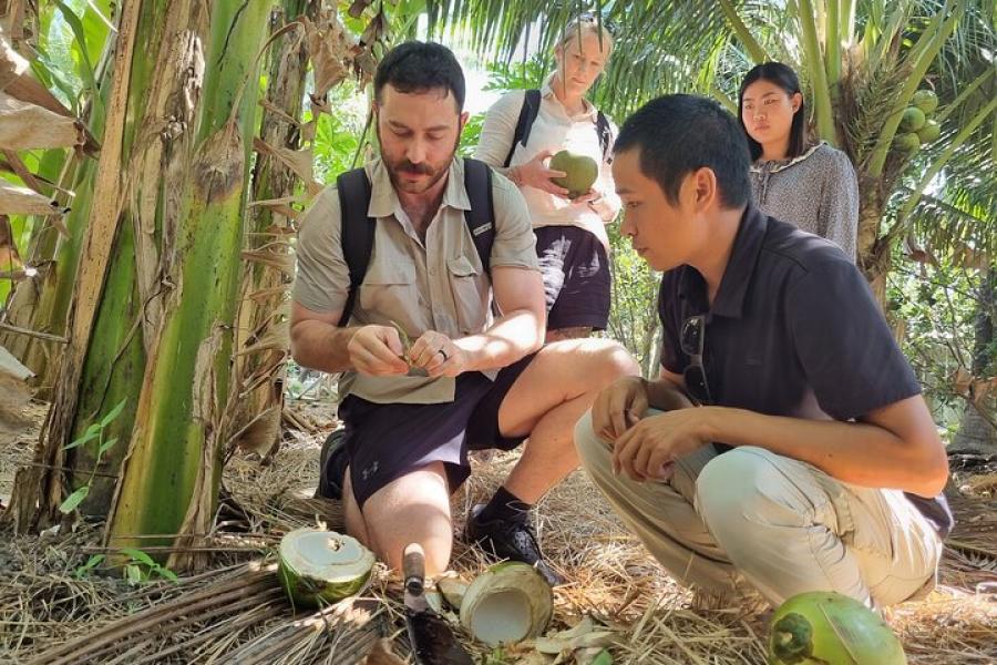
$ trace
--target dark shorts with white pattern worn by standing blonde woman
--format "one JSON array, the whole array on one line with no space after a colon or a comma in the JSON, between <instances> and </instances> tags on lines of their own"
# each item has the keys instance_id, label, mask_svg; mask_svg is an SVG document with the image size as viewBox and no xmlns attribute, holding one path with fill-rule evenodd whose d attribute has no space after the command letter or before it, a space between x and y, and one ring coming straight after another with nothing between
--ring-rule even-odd
<instances>
[{"instance_id":1,"label":"dark shorts with white pattern worn by standing blonde woman","mask_svg":"<svg viewBox=\"0 0 997 665\"><path fill-rule=\"evenodd\" d=\"M577 226L542 226L534 233L547 297L547 329L605 330L611 279L603 243Z\"/></svg>"}]
</instances>

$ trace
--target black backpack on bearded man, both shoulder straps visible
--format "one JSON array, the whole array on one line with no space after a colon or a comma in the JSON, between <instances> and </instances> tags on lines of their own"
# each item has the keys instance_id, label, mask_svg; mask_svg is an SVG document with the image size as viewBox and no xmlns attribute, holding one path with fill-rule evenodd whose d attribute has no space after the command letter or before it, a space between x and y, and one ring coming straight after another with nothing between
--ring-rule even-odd
<instances>
[{"instance_id":1,"label":"black backpack on bearded man, both shoulder straps visible","mask_svg":"<svg viewBox=\"0 0 997 665\"><path fill-rule=\"evenodd\" d=\"M354 168L336 178L339 192L339 207L342 214L340 242L342 256L350 270L350 290L339 325L345 326L353 313L357 291L367 275L377 219L367 216L370 207L370 181L363 168ZM474 248L481 265L487 273L491 267L492 242L495 239L495 206L492 202L492 170L484 162L464 158L464 188L471 201L471 209L464 213L464 221L474 238Z\"/></svg>"}]
</instances>

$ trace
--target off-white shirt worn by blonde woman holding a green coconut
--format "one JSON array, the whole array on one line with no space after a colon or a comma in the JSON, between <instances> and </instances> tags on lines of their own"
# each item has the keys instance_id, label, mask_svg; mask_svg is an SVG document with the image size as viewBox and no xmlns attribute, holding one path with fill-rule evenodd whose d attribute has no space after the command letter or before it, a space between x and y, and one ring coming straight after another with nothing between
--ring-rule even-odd
<instances>
[{"instance_id":1,"label":"off-white shirt worn by blonde woman holding a green coconut","mask_svg":"<svg viewBox=\"0 0 997 665\"><path fill-rule=\"evenodd\" d=\"M593 233L607 248L609 238L606 235L605 225L616 218L619 213L620 201L616 195L613 184L613 172L609 166L609 154L603 154L599 143L596 120L598 111L585 101L585 111L575 116L569 116L564 105L557 100L551 88L553 75L547 79L541 89L541 105L533 127L530 130L530 139L524 146L516 143L510 166L517 166L532 160L537 153L549 150L557 153L561 150L569 150L576 154L588 155L599 164L599 177L593 187L602 194L602 198L589 204L572 203L559 196L548 194L528 185L520 187L533 227L542 226L578 226ZM481 130L481 141L477 144L474 156L487 164L501 168L505 164L505 157L512 147L516 123L520 120L520 111L526 91L514 90L503 95L495 102L485 116ZM610 139L616 139L617 127L609 124ZM611 142L610 142L611 146Z\"/></svg>"}]
</instances>

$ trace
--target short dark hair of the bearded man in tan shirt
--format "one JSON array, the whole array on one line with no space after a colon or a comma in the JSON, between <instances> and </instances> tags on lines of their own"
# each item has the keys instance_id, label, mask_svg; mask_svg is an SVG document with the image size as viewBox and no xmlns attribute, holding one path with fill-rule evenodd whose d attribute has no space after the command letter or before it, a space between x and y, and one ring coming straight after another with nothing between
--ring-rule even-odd
<instances>
[{"instance_id":1,"label":"short dark hair of the bearded man in tan shirt","mask_svg":"<svg viewBox=\"0 0 997 665\"><path fill-rule=\"evenodd\" d=\"M464 109L464 71L453 51L435 42L408 41L391 49L374 73L374 99L390 83L399 92L425 92L441 88L453 93L458 112Z\"/></svg>"}]
</instances>

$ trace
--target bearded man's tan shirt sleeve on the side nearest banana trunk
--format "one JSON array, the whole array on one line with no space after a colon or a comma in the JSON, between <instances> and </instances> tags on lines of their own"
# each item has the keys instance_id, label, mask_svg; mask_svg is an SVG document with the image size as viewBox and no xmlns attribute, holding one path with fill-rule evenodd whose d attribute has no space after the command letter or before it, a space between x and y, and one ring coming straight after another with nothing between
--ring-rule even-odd
<instances>
[{"instance_id":1,"label":"bearded man's tan shirt sleeve on the side nearest banana trunk","mask_svg":"<svg viewBox=\"0 0 997 665\"><path fill-rule=\"evenodd\" d=\"M339 195L329 185L301 217L295 246L294 299L312 311L342 311L346 306L350 270L342 256L340 224Z\"/></svg>"}]
</instances>

